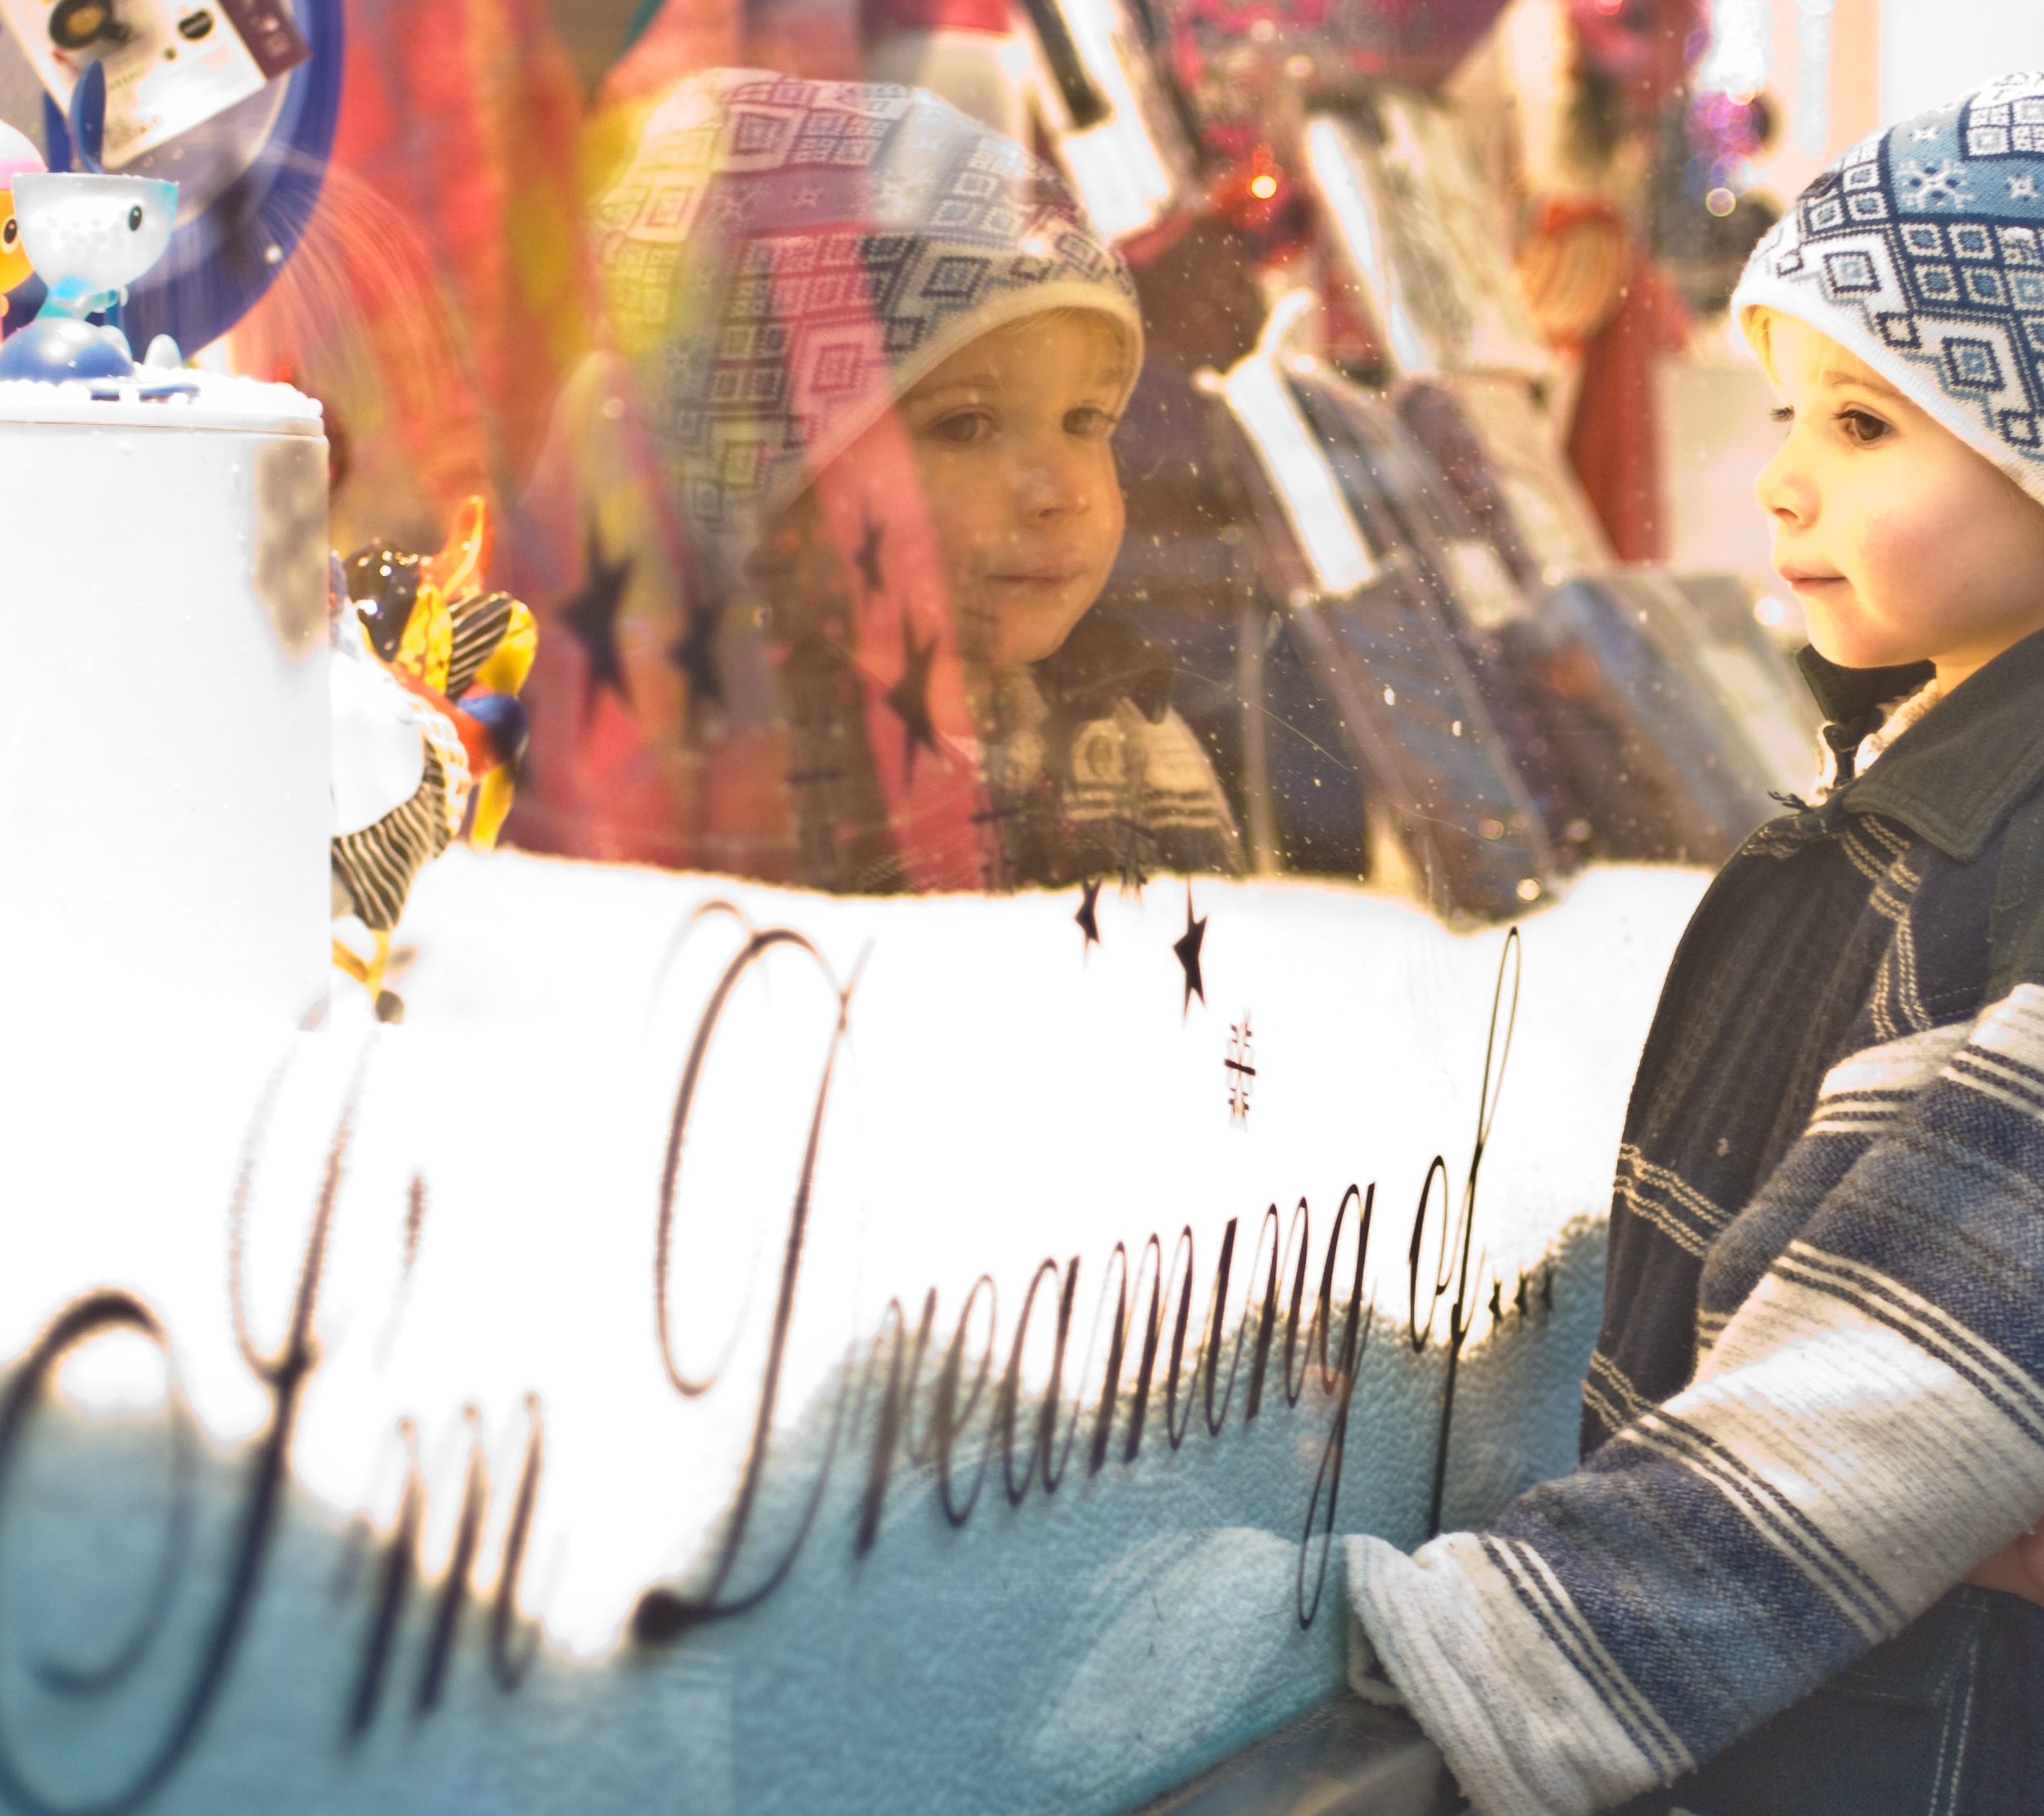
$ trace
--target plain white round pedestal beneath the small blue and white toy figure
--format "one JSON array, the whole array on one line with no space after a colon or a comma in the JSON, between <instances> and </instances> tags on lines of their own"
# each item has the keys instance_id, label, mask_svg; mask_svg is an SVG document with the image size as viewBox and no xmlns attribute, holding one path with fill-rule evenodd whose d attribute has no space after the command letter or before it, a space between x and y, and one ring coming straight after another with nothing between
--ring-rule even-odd
<instances>
[{"instance_id":1,"label":"plain white round pedestal beneath the small blue and white toy figure","mask_svg":"<svg viewBox=\"0 0 2044 1816\"><path fill-rule=\"evenodd\" d=\"M0 384L10 1063L327 988L327 444L288 387L200 376Z\"/></svg>"}]
</instances>

